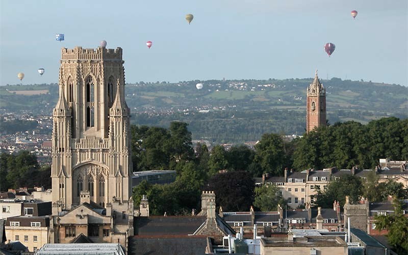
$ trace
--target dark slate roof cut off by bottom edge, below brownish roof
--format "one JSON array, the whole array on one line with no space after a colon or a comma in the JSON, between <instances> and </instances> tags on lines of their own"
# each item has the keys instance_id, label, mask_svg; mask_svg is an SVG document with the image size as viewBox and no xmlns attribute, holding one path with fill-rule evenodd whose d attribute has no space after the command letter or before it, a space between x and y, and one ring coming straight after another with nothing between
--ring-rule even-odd
<instances>
[{"instance_id":1,"label":"dark slate roof cut off by bottom edge, below brownish roof","mask_svg":"<svg viewBox=\"0 0 408 255\"><path fill-rule=\"evenodd\" d=\"M129 240L129 255L203 255L206 253L207 238L203 236L172 238L141 238Z\"/></svg>"}]
</instances>

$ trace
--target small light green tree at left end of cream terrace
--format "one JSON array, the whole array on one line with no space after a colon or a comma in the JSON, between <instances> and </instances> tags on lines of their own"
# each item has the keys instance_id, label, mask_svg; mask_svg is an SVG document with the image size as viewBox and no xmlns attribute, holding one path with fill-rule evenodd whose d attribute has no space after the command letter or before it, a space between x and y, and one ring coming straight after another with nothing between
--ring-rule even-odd
<instances>
[{"instance_id":1,"label":"small light green tree at left end of cream terrace","mask_svg":"<svg viewBox=\"0 0 408 255\"><path fill-rule=\"evenodd\" d=\"M260 208L262 212L275 211L277 205L285 206L286 200L283 198L281 189L274 185L262 185L254 190L255 200L253 205Z\"/></svg>"}]
</instances>

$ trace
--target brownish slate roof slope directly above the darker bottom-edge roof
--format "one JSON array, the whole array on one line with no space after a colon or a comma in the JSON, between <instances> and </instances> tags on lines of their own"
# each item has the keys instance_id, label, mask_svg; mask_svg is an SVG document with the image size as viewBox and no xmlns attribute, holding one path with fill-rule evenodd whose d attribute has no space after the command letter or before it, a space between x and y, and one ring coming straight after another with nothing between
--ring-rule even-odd
<instances>
[{"instance_id":1,"label":"brownish slate roof slope directly above the darker bottom-edge roof","mask_svg":"<svg viewBox=\"0 0 408 255\"><path fill-rule=\"evenodd\" d=\"M171 236L193 234L205 216L150 216L137 217L134 223L136 235Z\"/></svg>"}]
</instances>

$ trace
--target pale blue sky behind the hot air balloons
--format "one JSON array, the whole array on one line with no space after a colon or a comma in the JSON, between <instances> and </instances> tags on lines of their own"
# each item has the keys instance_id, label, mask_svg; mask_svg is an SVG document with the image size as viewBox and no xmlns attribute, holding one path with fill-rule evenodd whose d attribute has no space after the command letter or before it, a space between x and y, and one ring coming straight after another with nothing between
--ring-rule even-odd
<instances>
[{"instance_id":1,"label":"pale blue sky behind the hot air balloons","mask_svg":"<svg viewBox=\"0 0 408 255\"><path fill-rule=\"evenodd\" d=\"M318 69L322 79L408 86L407 3L2 0L0 85L20 84L18 72L22 84L56 83L62 47L106 40L123 49L126 83L310 78ZM59 33L65 41L56 41ZM336 45L331 57L327 42Z\"/></svg>"}]
</instances>

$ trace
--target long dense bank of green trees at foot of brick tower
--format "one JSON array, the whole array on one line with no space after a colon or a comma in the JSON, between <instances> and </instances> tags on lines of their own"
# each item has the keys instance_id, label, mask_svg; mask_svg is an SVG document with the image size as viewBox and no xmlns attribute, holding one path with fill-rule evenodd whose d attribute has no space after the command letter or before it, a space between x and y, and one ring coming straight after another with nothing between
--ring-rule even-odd
<instances>
[{"instance_id":1,"label":"long dense bank of green trees at foot of brick tower","mask_svg":"<svg viewBox=\"0 0 408 255\"><path fill-rule=\"evenodd\" d=\"M373 169L378 159L408 158L408 119L395 117L354 121L319 127L296 140L293 153L295 169L323 169L336 166L350 169L359 165Z\"/></svg>"}]
</instances>

